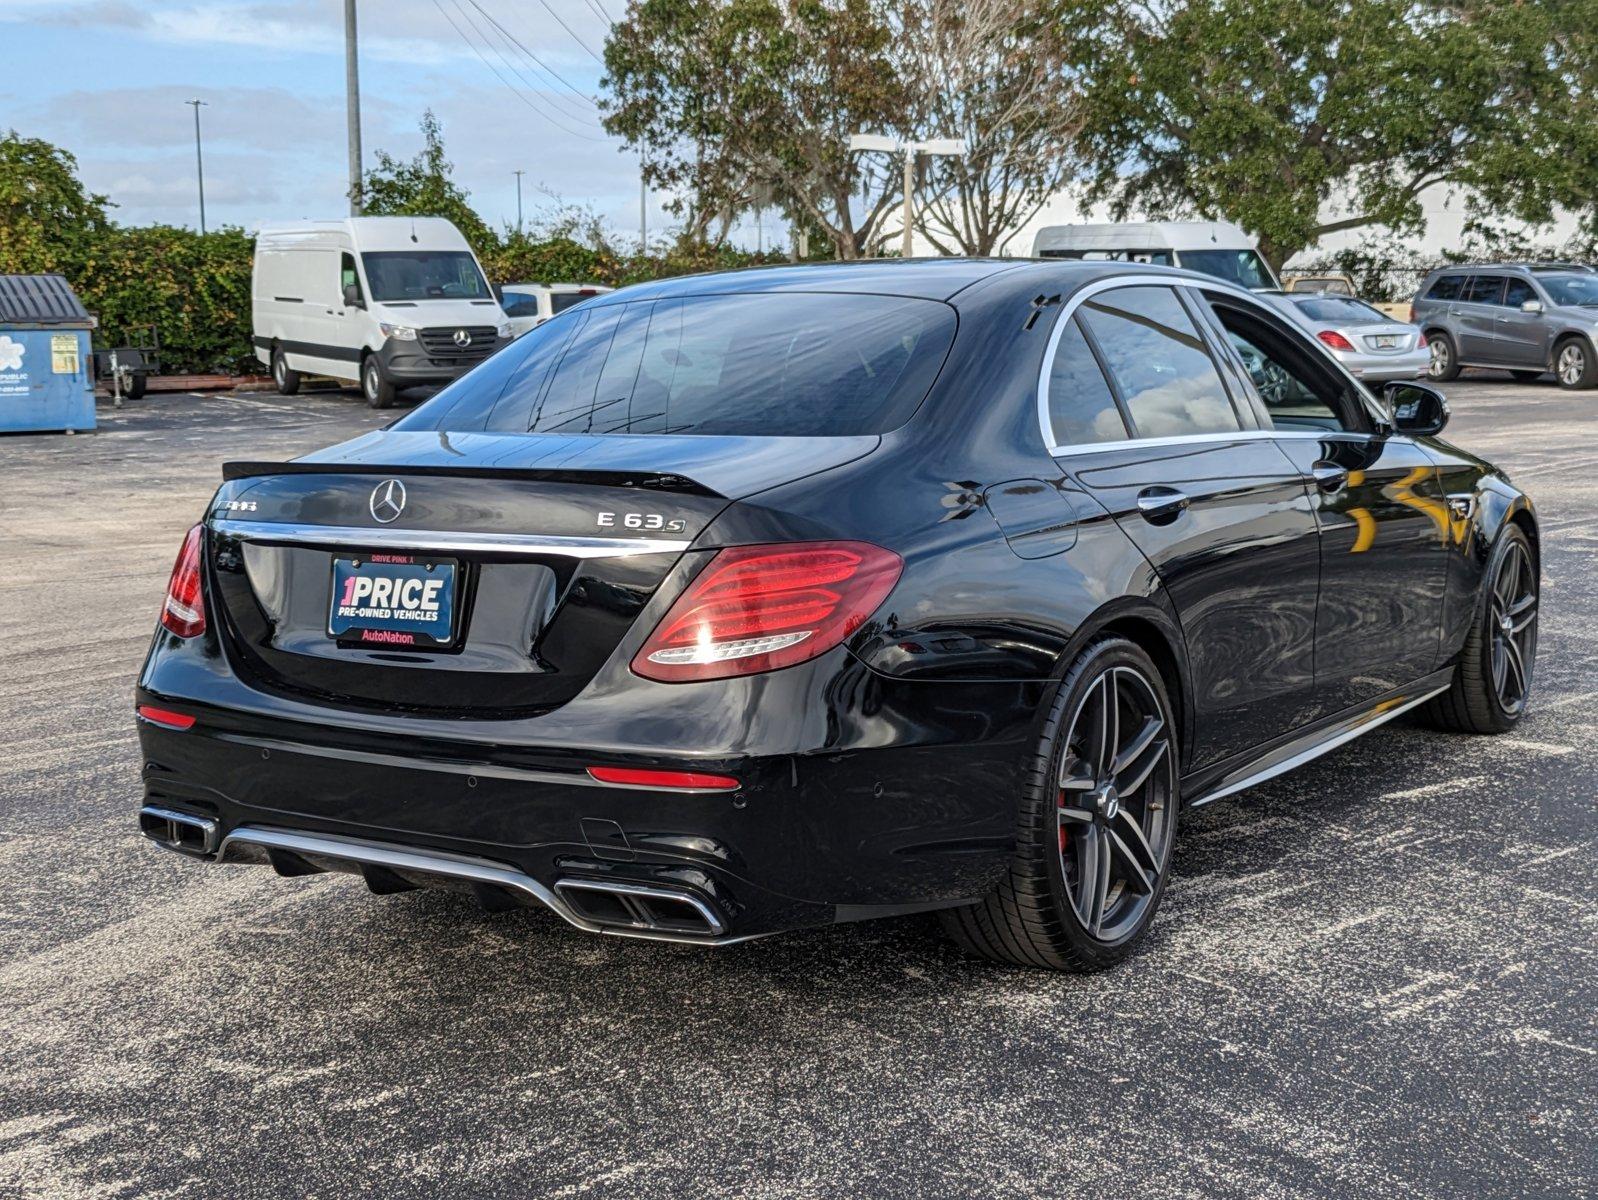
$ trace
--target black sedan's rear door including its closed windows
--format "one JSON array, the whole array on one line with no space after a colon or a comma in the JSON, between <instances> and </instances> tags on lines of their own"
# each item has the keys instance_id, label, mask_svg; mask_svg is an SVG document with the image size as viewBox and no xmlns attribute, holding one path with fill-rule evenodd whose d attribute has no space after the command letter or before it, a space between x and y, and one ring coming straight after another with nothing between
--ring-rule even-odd
<instances>
[{"instance_id":1,"label":"black sedan's rear door including its closed windows","mask_svg":"<svg viewBox=\"0 0 1598 1200\"><path fill-rule=\"evenodd\" d=\"M1302 724L1318 545L1299 471L1240 409L1168 286L1090 294L1056 332L1051 452L1144 553L1176 609L1198 743L1189 767Z\"/></svg>"}]
</instances>

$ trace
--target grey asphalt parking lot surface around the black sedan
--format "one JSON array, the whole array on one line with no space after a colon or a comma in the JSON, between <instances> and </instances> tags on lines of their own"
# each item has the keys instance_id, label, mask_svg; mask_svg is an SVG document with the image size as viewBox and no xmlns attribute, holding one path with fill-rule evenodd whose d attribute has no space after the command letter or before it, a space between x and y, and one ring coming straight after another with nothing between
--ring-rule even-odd
<instances>
[{"instance_id":1,"label":"grey asphalt parking lot surface around the black sedan","mask_svg":"<svg viewBox=\"0 0 1598 1200\"><path fill-rule=\"evenodd\" d=\"M182 530L224 460L387 415L0 439L0 1195L1593 1195L1598 393L1446 390L1540 510L1526 722L1192 813L1090 978L925 919L705 952L161 852L131 687Z\"/></svg>"}]
</instances>

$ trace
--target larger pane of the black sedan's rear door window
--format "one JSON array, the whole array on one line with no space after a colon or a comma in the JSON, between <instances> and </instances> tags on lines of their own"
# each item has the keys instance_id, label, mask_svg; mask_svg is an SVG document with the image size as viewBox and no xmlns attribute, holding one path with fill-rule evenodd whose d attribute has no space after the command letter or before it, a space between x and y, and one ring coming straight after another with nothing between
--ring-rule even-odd
<instances>
[{"instance_id":1,"label":"larger pane of the black sedan's rear door window","mask_svg":"<svg viewBox=\"0 0 1598 1200\"><path fill-rule=\"evenodd\" d=\"M1170 288L1115 288L1079 310L1139 438L1242 428L1198 329Z\"/></svg>"}]
</instances>

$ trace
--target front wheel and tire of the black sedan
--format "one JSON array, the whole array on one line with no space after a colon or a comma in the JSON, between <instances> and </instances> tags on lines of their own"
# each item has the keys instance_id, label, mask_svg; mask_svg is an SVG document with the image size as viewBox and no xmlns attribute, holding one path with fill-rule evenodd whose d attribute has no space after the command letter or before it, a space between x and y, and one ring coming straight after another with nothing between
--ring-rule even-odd
<instances>
[{"instance_id":1,"label":"front wheel and tire of the black sedan","mask_svg":"<svg viewBox=\"0 0 1598 1200\"><path fill-rule=\"evenodd\" d=\"M1515 577L1512 586L1504 583L1509 575ZM1427 706L1433 725L1453 733L1505 733L1520 724L1536 677L1537 601L1537 559L1531 542L1520 526L1509 524L1481 574L1477 614L1454 679ZM1504 639L1513 646L1513 655L1504 649ZM1512 684L1509 690L1507 684Z\"/></svg>"}]
</instances>

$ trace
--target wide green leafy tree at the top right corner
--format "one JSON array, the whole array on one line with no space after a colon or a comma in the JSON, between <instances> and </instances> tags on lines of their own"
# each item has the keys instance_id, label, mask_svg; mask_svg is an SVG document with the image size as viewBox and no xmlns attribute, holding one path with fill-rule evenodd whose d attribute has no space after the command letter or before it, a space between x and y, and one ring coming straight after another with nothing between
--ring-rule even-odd
<instances>
[{"instance_id":1,"label":"wide green leafy tree at the top right corner","mask_svg":"<svg viewBox=\"0 0 1598 1200\"><path fill-rule=\"evenodd\" d=\"M1419 197L1438 184L1529 222L1556 205L1590 206L1593 10L1061 0L1083 89L1088 198L1117 217L1227 217L1275 265L1338 230L1414 233Z\"/></svg>"}]
</instances>

